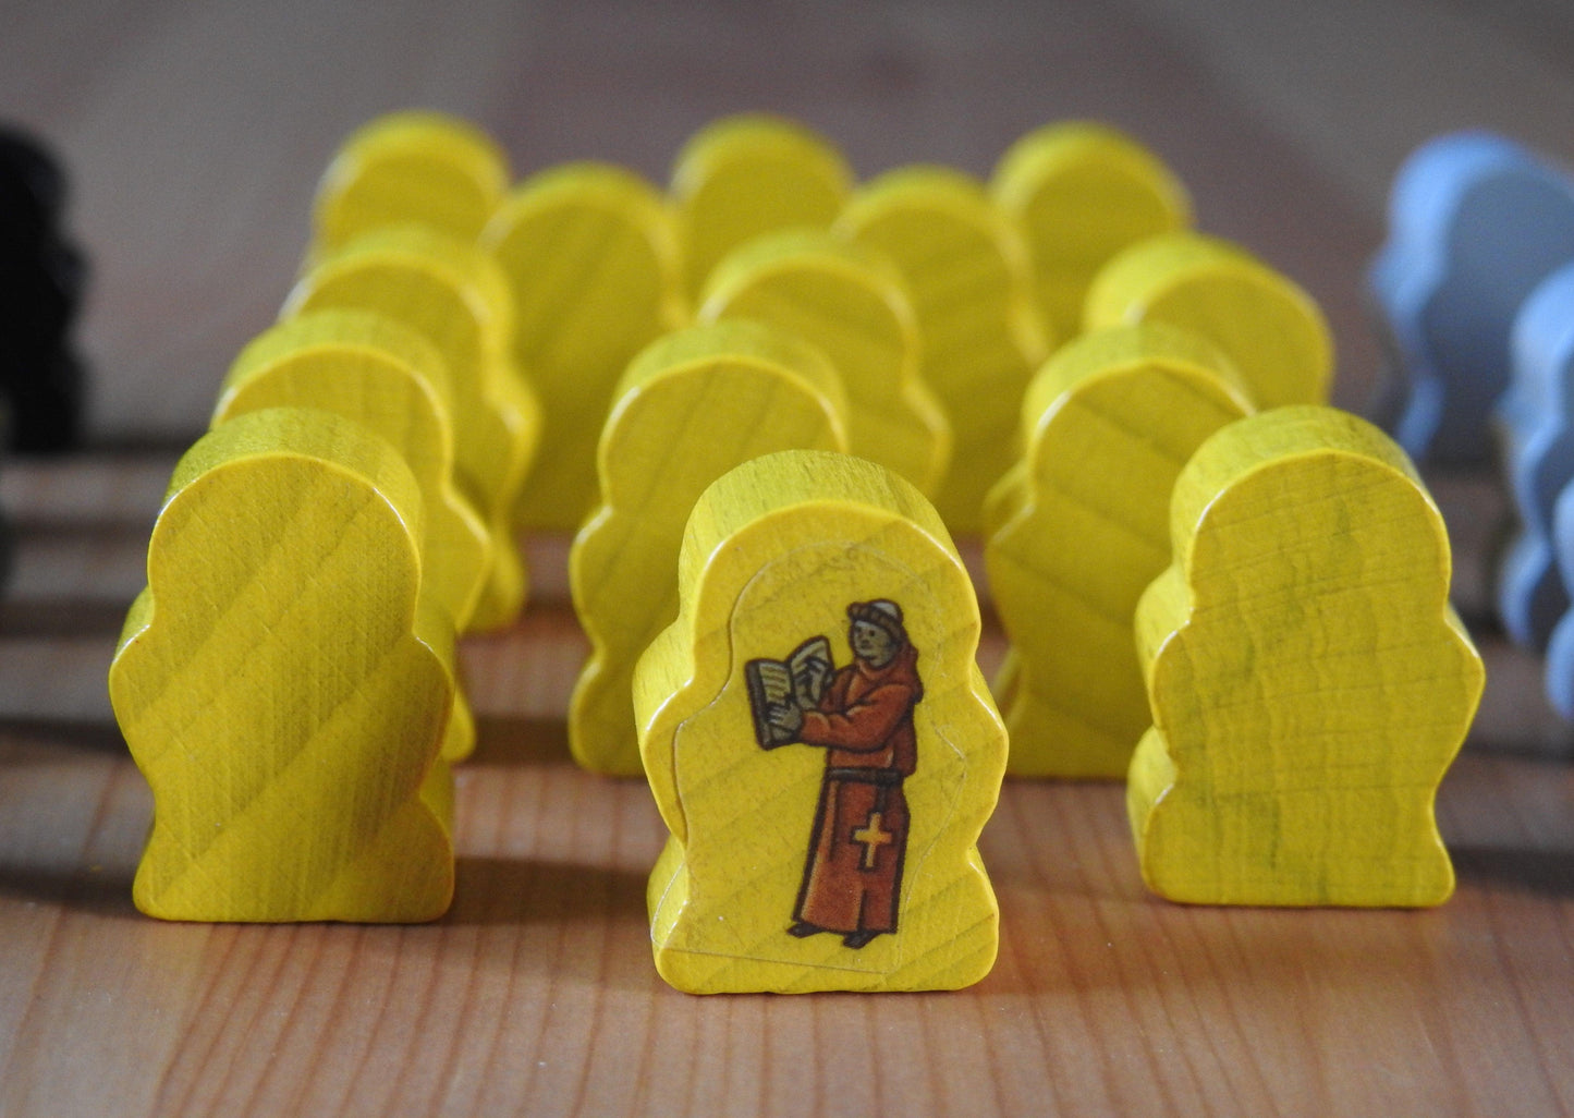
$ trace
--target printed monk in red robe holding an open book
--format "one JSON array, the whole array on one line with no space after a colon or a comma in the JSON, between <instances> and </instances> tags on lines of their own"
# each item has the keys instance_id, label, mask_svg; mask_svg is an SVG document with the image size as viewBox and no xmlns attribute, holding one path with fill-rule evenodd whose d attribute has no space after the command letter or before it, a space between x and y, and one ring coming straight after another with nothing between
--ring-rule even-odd
<instances>
[{"instance_id":1,"label":"printed monk in red robe holding an open book","mask_svg":"<svg viewBox=\"0 0 1574 1118\"><path fill-rule=\"evenodd\" d=\"M785 661L745 665L762 748L820 746L825 776L798 888L796 937L836 932L861 948L894 932L907 857L902 781L918 768L913 707L924 696L918 649L896 602L847 606L853 661L834 669L815 636Z\"/></svg>"}]
</instances>

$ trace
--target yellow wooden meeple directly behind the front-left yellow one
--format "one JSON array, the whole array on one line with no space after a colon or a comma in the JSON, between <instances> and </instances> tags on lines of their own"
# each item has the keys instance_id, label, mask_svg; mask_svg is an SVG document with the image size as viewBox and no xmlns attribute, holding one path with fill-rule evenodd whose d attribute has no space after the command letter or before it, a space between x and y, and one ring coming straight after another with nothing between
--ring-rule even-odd
<instances>
[{"instance_id":1,"label":"yellow wooden meeple directly behind the front-left yellow one","mask_svg":"<svg viewBox=\"0 0 1574 1118\"><path fill-rule=\"evenodd\" d=\"M316 310L279 323L236 357L212 422L263 408L321 408L360 424L405 458L427 512L422 581L461 631L486 584L493 542L453 483L453 420L447 367L416 331L364 310ZM442 756L475 748L463 687Z\"/></svg>"}]
</instances>

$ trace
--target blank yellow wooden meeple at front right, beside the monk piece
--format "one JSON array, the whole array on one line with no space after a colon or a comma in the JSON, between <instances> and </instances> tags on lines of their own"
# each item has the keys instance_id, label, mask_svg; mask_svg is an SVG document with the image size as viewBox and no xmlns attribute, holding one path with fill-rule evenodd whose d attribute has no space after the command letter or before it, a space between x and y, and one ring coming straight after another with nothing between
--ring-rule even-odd
<instances>
[{"instance_id":1,"label":"blank yellow wooden meeple at front right, beside the monk piece","mask_svg":"<svg viewBox=\"0 0 1574 1118\"><path fill-rule=\"evenodd\" d=\"M1187 463L1171 534L1136 611L1143 880L1204 904L1445 901L1432 801L1484 674L1404 452L1332 408L1264 411Z\"/></svg>"}]
</instances>

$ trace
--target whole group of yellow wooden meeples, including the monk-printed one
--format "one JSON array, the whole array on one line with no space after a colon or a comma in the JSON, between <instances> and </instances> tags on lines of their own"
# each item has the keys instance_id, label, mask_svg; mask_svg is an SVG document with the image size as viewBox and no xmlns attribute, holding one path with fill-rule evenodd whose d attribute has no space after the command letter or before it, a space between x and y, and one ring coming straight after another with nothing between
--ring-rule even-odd
<instances>
[{"instance_id":1,"label":"whole group of yellow wooden meeples, including the monk-printed one","mask_svg":"<svg viewBox=\"0 0 1574 1118\"><path fill-rule=\"evenodd\" d=\"M730 118L666 192L510 189L461 121L371 123L176 469L110 672L156 801L139 907L439 916L453 636L518 614L519 529L578 529L570 743L650 779L683 989L976 981L1007 770L1129 776L1174 899L1445 899L1432 795L1481 668L1442 520L1324 406L1314 302L1188 224L1084 123L988 184L859 184ZM1009 751L952 532L985 537Z\"/></svg>"}]
</instances>

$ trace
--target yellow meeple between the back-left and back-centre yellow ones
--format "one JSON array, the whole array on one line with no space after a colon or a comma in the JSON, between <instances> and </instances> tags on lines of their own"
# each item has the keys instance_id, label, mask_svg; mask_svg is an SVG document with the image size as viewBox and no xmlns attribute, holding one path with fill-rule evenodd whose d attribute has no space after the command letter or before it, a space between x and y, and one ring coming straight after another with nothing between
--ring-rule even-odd
<instances>
[{"instance_id":1,"label":"yellow meeple between the back-left and back-centre yellow ones","mask_svg":"<svg viewBox=\"0 0 1574 1118\"><path fill-rule=\"evenodd\" d=\"M688 318L672 220L637 175L570 164L515 189L482 247L512 280L513 353L541 400L519 520L575 531L595 504L595 446L617 378Z\"/></svg>"}]
</instances>

